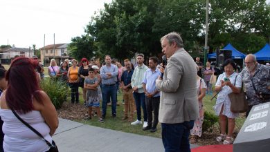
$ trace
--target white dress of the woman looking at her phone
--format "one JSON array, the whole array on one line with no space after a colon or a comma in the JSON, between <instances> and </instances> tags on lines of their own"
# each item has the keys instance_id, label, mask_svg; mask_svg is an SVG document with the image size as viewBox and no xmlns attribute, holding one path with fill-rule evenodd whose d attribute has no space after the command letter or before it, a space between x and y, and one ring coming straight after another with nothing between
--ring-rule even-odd
<instances>
[{"instance_id":1,"label":"white dress of the woman looking at her phone","mask_svg":"<svg viewBox=\"0 0 270 152\"><path fill-rule=\"evenodd\" d=\"M221 80L224 80L224 77L226 77L226 73L222 73L221 75L219 75L215 86L220 86ZM235 78L236 78L236 82L235 82ZM228 77L228 79L230 79L230 82L233 85L235 85L237 88L241 88L242 78L240 75L238 75L237 73L233 73L232 75L230 75L230 77ZM222 90L219 91L219 94L217 95L216 104L215 104L215 106L213 106L213 108L215 109L215 115L219 116L220 111L222 110L222 105L224 106L222 115L226 115L226 117L229 117L232 119L239 115L239 113L232 113L231 112L231 100L228 97L228 94L232 93L232 92L233 91L231 90L230 86L223 86Z\"/></svg>"}]
</instances>

